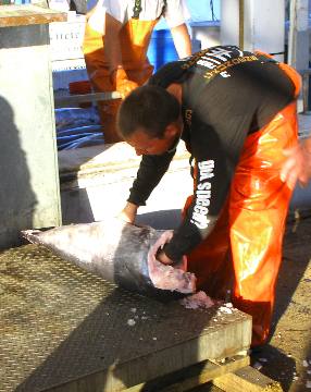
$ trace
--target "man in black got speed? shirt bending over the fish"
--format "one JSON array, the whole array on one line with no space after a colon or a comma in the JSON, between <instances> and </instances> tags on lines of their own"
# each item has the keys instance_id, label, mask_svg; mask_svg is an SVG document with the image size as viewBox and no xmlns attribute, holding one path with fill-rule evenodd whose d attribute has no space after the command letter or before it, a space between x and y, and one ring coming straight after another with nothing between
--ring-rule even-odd
<instances>
[{"instance_id":1,"label":"man in black got speed? shirt bending over the fish","mask_svg":"<svg viewBox=\"0 0 311 392\"><path fill-rule=\"evenodd\" d=\"M252 346L268 341L293 189L281 180L284 150L297 144L300 76L235 46L169 63L128 95L117 127L142 159L120 217L133 223L183 139L194 195L158 254L183 255L198 289L252 316ZM172 186L167 192L174 192Z\"/></svg>"}]
</instances>

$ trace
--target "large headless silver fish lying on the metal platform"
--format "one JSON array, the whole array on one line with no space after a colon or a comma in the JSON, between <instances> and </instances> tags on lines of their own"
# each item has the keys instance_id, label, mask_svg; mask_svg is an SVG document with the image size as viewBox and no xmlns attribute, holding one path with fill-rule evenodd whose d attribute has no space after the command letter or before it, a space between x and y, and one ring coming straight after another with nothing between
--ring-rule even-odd
<instances>
[{"instance_id":1,"label":"large headless silver fish lying on the metal platform","mask_svg":"<svg viewBox=\"0 0 311 392\"><path fill-rule=\"evenodd\" d=\"M172 231L136 226L115 218L47 231L26 230L22 235L87 271L140 294L166 299L178 297L176 293L181 296L196 292L196 278L186 271L186 258L174 268L156 259L159 248L171 240Z\"/></svg>"}]
</instances>

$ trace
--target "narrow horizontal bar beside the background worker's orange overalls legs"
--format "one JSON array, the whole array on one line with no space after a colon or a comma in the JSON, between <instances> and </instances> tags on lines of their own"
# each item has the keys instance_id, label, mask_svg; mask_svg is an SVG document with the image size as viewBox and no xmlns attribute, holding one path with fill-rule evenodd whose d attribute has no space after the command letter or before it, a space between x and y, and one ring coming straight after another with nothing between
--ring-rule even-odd
<instances>
[{"instance_id":1,"label":"narrow horizontal bar beside the background worker's orange overalls legs","mask_svg":"<svg viewBox=\"0 0 311 392\"><path fill-rule=\"evenodd\" d=\"M117 91L112 93L91 93L91 94L80 94L72 95L64 97L55 97L54 105L55 108L74 108L78 107L83 102L97 102L100 100L109 99L120 99L121 96Z\"/></svg>"}]
</instances>

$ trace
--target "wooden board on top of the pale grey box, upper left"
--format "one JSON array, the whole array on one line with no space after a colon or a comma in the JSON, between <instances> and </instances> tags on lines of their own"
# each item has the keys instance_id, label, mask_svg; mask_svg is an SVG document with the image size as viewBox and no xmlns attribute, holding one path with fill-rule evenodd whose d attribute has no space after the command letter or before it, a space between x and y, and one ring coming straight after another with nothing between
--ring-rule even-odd
<instances>
[{"instance_id":1,"label":"wooden board on top of the pale grey box, upper left","mask_svg":"<svg viewBox=\"0 0 311 392\"><path fill-rule=\"evenodd\" d=\"M51 22L65 22L66 20L67 14L65 12L34 4L0 7L0 27L48 24Z\"/></svg>"}]
</instances>

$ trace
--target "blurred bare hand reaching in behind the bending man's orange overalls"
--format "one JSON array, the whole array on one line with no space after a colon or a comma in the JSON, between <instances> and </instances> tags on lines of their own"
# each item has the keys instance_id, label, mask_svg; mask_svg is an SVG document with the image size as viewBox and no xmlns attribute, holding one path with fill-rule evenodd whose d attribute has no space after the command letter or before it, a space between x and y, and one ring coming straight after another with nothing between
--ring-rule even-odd
<instances>
[{"instance_id":1,"label":"blurred bare hand reaching in behind the bending man's orange overalls","mask_svg":"<svg viewBox=\"0 0 311 392\"><path fill-rule=\"evenodd\" d=\"M281 179L293 189L297 181L306 186L311 179L311 137L300 140L285 155L288 158L282 168Z\"/></svg>"}]
</instances>

